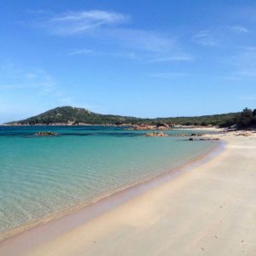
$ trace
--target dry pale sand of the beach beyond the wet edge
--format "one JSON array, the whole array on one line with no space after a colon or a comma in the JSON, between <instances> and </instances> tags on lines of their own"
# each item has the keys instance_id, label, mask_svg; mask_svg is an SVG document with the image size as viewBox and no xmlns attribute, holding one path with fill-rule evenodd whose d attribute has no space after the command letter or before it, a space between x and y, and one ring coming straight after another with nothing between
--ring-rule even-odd
<instances>
[{"instance_id":1,"label":"dry pale sand of the beach beyond the wet edge","mask_svg":"<svg viewBox=\"0 0 256 256\"><path fill-rule=\"evenodd\" d=\"M225 150L206 164L26 255L256 255L256 137L218 137Z\"/></svg>"}]
</instances>

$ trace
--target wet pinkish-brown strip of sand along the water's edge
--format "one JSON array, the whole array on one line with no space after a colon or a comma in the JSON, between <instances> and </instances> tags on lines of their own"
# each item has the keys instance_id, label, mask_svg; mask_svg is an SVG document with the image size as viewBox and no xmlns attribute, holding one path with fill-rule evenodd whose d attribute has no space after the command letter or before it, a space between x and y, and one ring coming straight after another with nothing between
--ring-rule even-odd
<instances>
[{"instance_id":1,"label":"wet pinkish-brown strip of sand along the water's edge","mask_svg":"<svg viewBox=\"0 0 256 256\"><path fill-rule=\"evenodd\" d=\"M189 172L196 166L201 166L207 161L212 160L224 150L224 144L224 141L214 142L212 143L212 147L207 149L206 152L193 157L193 159L187 160L182 166L177 166L176 168L160 173L154 177L148 177L148 179L143 181L131 183L125 188L110 191L92 201L87 201L83 204L79 204L77 207L71 209L68 208L62 212L58 212L55 216L40 219L36 223L28 224L24 227L11 230L10 232L5 232L3 234L7 236L2 235L2 240L0 241L0 253L2 250L5 252L5 249L9 250L9 248L12 248L14 242L17 243L18 248L21 247L23 242L20 244L20 241L23 241L24 239L32 239L34 233L37 234L42 231L49 233L48 229L53 231L50 226L58 226L59 230L55 230L53 233L55 233L55 236L59 236L61 233L73 229L79 224L84 224L84 222L86 223L104 212L111 211L114 207L119 207L125 203L125 201L129 201L162 183L172 180L174 177ZM79 220L83 219L82 223L76 223L75 218L78 218ZM71 224L67 224L67 221L71 222ZM61 225L66 225L66 228L63 229L62 227L60 229ZM27 236L29 238L27 238ZM47 236L46 240L49 240L49 236Z\"/></svg>"}]
</instances>

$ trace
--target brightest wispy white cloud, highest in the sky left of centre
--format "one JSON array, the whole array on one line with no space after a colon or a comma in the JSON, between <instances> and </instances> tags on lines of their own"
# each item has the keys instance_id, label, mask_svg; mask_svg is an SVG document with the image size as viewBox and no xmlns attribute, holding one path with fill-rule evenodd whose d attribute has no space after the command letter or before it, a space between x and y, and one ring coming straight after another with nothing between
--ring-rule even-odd
<instances>
[{"instance_id":1,"label":"brightest wispy white cloud, highest in the sky left of centre","mask_svg":"<svg viewBox=\"0 0 256 256\"><path fill-rule=\"evenodd\" d=\"M127 15L102 10L89 10L69 12L55 15L41 22L49 32L57 35L68 36L89 32L103 26L113 26L129 20Z\"/></svg>"}]
</instances>

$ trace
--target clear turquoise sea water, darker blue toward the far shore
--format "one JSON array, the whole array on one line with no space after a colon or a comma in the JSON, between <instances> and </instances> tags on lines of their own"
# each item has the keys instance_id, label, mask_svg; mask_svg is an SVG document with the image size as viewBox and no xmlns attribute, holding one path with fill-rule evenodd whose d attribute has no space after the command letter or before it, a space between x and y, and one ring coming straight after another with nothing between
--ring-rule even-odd
<instances>
[{"instance_id":1,"label":"clear turquoise sea water, darker blue toward the far shore","mask_svg":"<svg viewBox=\"0 0 256 256\"><path fill-rule=\"evenodd\" d=\"M36 131L60 136L34 137ZM170 171L215 145L144 132L0 126L0 233Z\"/></svg>"}]
</instances>

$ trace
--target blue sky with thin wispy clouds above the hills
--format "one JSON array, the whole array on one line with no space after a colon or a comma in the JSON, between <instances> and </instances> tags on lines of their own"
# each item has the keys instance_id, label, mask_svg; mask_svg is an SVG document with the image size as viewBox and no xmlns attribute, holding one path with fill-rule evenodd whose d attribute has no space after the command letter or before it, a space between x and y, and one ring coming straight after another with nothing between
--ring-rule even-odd
<instances>
[{"instance_id":1,"label":"blue sky with thin wispy clouds above the hills","mask_svg":"<svg viewBox=\"0 0 256 256\"><path fill-rule=\"evenodd\" d=\"M0 123L60 106L256 108L255 0L0 0Z\"/></svg>"}]
</instances>

